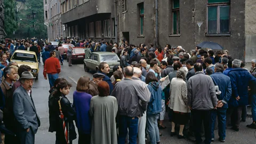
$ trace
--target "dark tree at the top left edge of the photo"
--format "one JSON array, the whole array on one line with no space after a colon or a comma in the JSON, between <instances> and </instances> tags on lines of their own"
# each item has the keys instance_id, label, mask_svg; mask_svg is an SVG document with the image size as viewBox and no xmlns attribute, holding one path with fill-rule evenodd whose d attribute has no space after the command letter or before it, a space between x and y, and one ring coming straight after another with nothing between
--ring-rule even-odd
<instances>
[{"instance_id":1,"label":"dark tree at the top left edge of the photo","mask_svg":"<svg viewBox=\"0 0 256 144\"><path fill-rule=\"evenodd\" d=\"M15 0L4 1L4 29L7 37L13 35L13 31L17 30L18 22L15 21Z\"/></svg>"}]
</instances>

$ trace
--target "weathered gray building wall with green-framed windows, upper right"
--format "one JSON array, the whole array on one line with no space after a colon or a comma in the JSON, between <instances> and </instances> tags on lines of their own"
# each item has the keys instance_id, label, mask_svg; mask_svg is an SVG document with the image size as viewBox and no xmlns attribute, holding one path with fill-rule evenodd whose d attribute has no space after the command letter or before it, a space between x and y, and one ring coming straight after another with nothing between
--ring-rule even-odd
<instances>
[{"instance_id":1,"label":"weathered gray building wall with green-framed windows, upper right","mask_svg":"<svg viewBox=\"0 0 256 144\"><path fill-rule=\"evenodd\" d=\"M203 41L212 41L229 50L234 58L247 62L256 54L255 3L255 0L119 0L118 35L132 44L182 45L188 51ZM245 58L245 51L250 58Z\"/></svg>"}]
</instances>

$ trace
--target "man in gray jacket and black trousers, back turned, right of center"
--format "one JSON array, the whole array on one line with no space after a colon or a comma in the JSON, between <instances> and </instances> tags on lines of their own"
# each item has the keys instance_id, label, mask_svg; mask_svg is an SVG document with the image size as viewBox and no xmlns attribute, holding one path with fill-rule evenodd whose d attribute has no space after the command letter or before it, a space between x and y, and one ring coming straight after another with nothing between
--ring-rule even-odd
<instances>
[{"instance_id":1,"label":"man in gray jacket and black trousers, back turned, right of center","mask_svg":"<svg viewBox=\"0 0 256 144\"><path fill-rule=\"evenodd\" d=\"M211 111L218 100L212 78L204 75L201 63L194 65L195 75L188 80L188 105L193 116L196 143L201 143L201 125L204 122L204 143L211 143Z\"/></svg>"}]
</instances>

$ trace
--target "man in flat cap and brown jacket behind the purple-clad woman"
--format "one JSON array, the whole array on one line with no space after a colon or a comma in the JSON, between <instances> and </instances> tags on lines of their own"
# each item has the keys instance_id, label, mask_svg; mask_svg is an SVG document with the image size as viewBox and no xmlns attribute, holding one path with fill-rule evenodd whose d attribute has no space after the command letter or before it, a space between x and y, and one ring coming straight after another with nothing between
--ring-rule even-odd
<instances>
[{"instance_id":1,"label":"man in flat cap and brown jacket behind the purple-clad woman","mask_svg":"<svg viewBox=\"0 0 256 144\"><path fill-rule=\"evenodd\" d=\"M92 96L98 95L98 83L102 81L102 79L105 77L104 74L101 73L95 73L93 74L93 79L89 83L89 89L87 89L86 93L91 94Z\"/></svg>"}]
</instances>

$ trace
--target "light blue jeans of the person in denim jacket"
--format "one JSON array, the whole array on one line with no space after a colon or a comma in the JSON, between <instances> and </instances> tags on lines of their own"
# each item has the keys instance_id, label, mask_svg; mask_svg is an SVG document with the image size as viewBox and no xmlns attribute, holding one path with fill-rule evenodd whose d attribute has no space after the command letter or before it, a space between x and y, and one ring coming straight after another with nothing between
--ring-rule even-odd
<instances>
[{"instance_id":1,"label":"light blue jeans of the person in denim jacket","mask_svg":"<svg viewBox=\"0 0 256 144\"><path fill-rule=\"evenodd\" d=\"M148 135L150 138L150 143L155 144L160 141L159 130L157 126L157 118L159 114L147 115L147 126L148 126Z\"/></svg>"}]
</instances>

